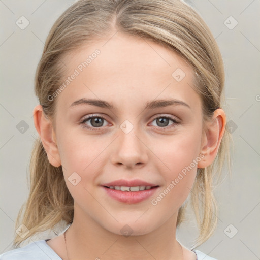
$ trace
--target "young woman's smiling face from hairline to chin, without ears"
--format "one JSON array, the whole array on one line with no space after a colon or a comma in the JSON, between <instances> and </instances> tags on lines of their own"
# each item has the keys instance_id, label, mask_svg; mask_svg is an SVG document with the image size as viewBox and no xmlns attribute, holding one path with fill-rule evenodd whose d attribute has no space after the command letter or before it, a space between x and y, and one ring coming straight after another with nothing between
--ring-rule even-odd
<instances>
[{"instance_id":1,"label":"young woman's smiling face from hairline to chin, without ears","mask_svg":"<svg viewBox=\"0 0 260 260\"><path fill-rule=\"evenodd\" d=\"M119 32L106 42L64 61L76 76L55 97L58 152L79 219L147 234L177 216L193 185L202 104L191 68L171 50Z\"/></svg>"}]
</instances>

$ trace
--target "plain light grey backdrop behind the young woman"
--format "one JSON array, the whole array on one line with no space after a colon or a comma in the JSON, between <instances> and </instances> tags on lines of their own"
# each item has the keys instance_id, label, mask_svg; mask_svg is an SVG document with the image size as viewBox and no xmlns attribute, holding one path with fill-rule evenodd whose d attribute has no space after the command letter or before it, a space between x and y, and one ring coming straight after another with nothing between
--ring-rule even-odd
<instances>
[{"instance_id":1,"label":"plain light grey backdrop behind the young woman","mask_svg":"<svg viewBox=\"0 0 260 260\"><path fill-rule=\"evenodd\" d=\"M36 67L52 24L73 2L0 0L0 254L11 249L14 222L29 193L29 158L38 136L32 119L32 109L38 104L34 95ZM218 226L214 235L197 249L219 260L260 259L260 2L194 0L189 3L205 19L222 52L228 103L225 109L230 125L232 120L233 126L237 126L232 130L235 129L233 177L216 190L220 205ZM24 30L16 25L21 16L29 21ZM236 21L237 26L231 29ZM17 129L22 120L29 127L24 133ZM196 222L191 220L177 232L177 238L187 247L198 234ZM236 230L238 233L230 238ZM54 235L46 233L35 240Z\"/></svg>"}]
</instances>

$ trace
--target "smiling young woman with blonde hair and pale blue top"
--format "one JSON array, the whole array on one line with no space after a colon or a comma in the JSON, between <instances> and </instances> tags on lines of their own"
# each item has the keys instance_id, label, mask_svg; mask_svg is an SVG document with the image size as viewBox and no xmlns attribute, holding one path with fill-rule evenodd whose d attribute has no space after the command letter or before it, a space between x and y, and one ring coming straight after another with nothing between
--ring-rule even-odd
<instances>
[{"instance_id":1,"label":"smiling young woman with blonde hair and pale blue top","mask_svg":"<svg viewBox=\"0 0 260 260\"><path fill-rule=\"evenodd\" d=\"M36 73L39 140L15 246L68 226L0 259L214 259L176 229L189 201L196 245L215 229L213 177L229 157L223 88L216 41L186 3L70 6Z\"/></svg>"}]
</instances>

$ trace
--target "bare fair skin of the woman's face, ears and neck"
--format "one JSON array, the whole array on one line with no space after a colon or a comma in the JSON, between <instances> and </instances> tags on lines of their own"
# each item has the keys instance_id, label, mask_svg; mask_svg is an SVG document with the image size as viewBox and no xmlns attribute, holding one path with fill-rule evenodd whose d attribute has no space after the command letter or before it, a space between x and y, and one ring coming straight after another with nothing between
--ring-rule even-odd
<instances>
[{"instance_id":1,"label":"bare fair skin of the woman's face, ears and neck","mask_svg":"<svg viewBox=\"0 0 260 260\"><path fill-rule=\"evenodd\" d=\"M64 60L69 76L95 49L101 51L55 98L55 129L40 105L34 109L35 127L49 162L55 167L62 165L74 198L74 221L66 233L69 258L196 259L194 252L176 240L177 213L192 188L197 168L209 166L216 157L225 113L217 109L203 127L200 96L191 87L192 70L173 51L119 32L108 39L83 46ZM186 74L180 82L172 77L177 68ZM105 100L115 108L70 107L82 98ZM146 102L158 99L181 100L190 108L175 105L144 110ZM99 128L93 121L84 123L94 131L79 123L92 114L105 118ZM155 118L164 116L180 123L169 119L163 127ZM125 120L134 126L127 134L120 128ZM204 157L198 165L152 205L151 200L200 154ZM73 172L81 177L76 186L68 180ZM160 187L145 201L125 204L108 197L100 186L118 179L141 179ZM120 232L126 224L133 231L129 237ZM68 259L63 234L47 244Z\"/></svg>"}]
</instances>

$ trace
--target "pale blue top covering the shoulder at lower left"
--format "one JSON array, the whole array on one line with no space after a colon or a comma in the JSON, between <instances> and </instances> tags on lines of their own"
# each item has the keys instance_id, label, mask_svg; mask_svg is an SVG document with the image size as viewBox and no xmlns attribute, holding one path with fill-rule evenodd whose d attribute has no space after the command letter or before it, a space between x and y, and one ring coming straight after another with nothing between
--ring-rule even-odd
<instances>
[{"instance_id":1,"label":"pale blue top covering the shoulder at lower left","mask_svg":"<svg viewBox=\"0 0 260 260\"><path fill-rule=\"evenodd\" d=\"M45 240L32 242L24 247L16 248L0 255L0 260L61 260L48 246Z\"/></svg>"}]
</instances>

